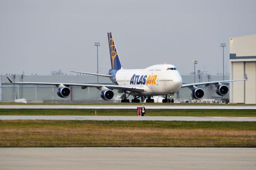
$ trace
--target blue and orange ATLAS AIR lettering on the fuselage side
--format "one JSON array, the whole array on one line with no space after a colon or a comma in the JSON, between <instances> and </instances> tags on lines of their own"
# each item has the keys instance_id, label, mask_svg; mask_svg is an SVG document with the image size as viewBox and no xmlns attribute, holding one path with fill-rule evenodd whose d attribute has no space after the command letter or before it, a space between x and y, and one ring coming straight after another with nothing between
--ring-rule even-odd
<instances>
[{"instance_id":1,"label":"blue and orange ATLAS AIR lettering on the fuselage side","mask_svg":"<svg viewBox=\"0 0 256 170\"><path fill-rule=\"evenodd\" d=\"M156 84L157 75L136 75L134 74L131 78L130 84Z\"/></svg>"}]
</instances>

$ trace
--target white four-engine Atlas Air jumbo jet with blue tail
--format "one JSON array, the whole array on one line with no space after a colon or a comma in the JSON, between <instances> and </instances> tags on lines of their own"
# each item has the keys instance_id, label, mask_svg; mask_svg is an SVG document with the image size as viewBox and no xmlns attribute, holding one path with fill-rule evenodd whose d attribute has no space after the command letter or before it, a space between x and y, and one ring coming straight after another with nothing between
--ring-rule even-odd
<instances>
[{"instance_id":1,"label":"white four-engine Atlas Air jumbo jet with blue tail","mask_svg":"<svg viewBox=\"0 0 256 170\"><path fill-rule=\"evenodd\" d=\"M15 84L46 84L55 85L58 90L57 94L61 98L70 96L69 86L80 86L82 89L87 87L95 87L101 91L101 98L103 100L112 100L114 98L113 89L118 90L121 96L121 102L130 102L129 96L133 96L131 102L154 102L153 96L163 96L162 102L173 103L172 96L181 88L189 88L192 91L192 97L195 99L202 99L204 97L204 90L198 88L199 85L209 86L214 84L216 86L216 93L220 96L225 96L229 92L228 86L222 84L224 82L234 82L248 80L247 76L239 80L224 80L212 82L200 82L182 84L182 78L172 64L157 64L149 66L145 69L124 69L114 43L111 32L108 32L108 44L110 52L111 69L108 74L96 74L89 72L70 71L81 74L90 74L95 76L108 77L113 82L112 85L106 84L79 84L79 83L51 83L51 82L13 82L9 77L10 83Z\"/></svg>"}]
</instances>

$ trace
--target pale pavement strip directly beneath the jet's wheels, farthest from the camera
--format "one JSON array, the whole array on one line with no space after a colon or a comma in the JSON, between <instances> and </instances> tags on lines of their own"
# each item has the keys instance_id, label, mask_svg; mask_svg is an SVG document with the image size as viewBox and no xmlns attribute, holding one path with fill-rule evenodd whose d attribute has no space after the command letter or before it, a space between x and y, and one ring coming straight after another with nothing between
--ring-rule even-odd
<instances>
[{"instance_id":1,"label":"pale pavement strip directly beneath the jet's wheels, farthest from the camera","mask_svg":"<svg viewBox=\"0 0 256 170\"><path fill-rule=\"evenodd\" d=\"M136 109L142 105L0 105L0 109ZM145 106L146 109L254 109L256 106Z\"/></svg>"}]
</instances>

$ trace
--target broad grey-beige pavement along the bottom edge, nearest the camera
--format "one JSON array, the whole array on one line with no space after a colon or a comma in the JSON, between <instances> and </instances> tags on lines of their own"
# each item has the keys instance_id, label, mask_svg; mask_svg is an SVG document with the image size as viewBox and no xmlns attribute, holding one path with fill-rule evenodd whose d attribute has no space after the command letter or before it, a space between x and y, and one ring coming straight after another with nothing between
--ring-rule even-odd
<instances>
[{"instance_id":1,"label":"broad grey-beige pavement along the bottom edge, nearest the camera","mask_svg":"<svg viewBox=\"0 0 256 170\"><path fill-rule=\"evenodd\" d=\"M255 170L255 148L0 148L4 170Z\"/></svg>"}]
</instances>

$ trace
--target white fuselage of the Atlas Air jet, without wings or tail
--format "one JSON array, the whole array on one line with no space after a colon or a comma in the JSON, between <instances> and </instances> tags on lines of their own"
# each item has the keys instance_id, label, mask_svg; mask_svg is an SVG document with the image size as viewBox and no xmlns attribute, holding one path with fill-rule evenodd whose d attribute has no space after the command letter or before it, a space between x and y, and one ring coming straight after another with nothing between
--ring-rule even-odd
<instances>
[{"instance_id":1,"label":"white fuselage of the Atlas Air jet, without wings or tail","mask_svg":"<svg viewBox=\"0 0 256 170\"><path fill-rule=\"evenodd\" d=\"M133 93L133 96L158 96L178 92L182 78L171 64L159 64L145 69L121 69L116 72L119 85L138 85L144 92Z\"/></svg>"}]
</instances>

